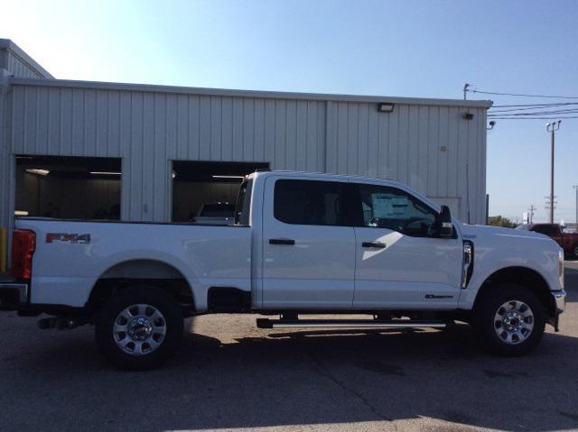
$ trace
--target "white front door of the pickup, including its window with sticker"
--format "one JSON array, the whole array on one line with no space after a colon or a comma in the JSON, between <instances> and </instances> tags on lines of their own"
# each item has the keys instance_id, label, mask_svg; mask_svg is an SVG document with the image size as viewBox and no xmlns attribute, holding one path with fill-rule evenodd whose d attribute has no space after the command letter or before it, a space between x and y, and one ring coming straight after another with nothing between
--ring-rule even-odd
<instances>
[{"instance_id":1,"label":"white front door of the pickup, including its window with sticker","mask_svg":"<svg viewBox=\"0 0 578 432\"><path fill-rule=\"evenodd\" d=\"M438 237L437 212L405 190L351 187L357 196L353 308L456 308L461 238Z\"/></svg>"}]
</instances>

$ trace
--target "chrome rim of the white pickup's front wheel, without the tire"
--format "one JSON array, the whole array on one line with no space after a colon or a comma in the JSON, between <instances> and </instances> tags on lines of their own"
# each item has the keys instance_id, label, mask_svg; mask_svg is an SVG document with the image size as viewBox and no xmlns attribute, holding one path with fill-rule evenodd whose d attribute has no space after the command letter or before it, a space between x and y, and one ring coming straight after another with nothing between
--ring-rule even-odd
<instances>
[{"instance_id":1,"label":"chrome rim of the white pickup's front wheel, without the tire","mask_svg":"<svg viewBox=\"0 0 578 432\"><path fill-rule=\"evenodd\" d=\"M494 330L502 342L518 345L534 330L534 312L526 303L509 300L501 305L494 317Z\"/></svg>"}]
</instances>

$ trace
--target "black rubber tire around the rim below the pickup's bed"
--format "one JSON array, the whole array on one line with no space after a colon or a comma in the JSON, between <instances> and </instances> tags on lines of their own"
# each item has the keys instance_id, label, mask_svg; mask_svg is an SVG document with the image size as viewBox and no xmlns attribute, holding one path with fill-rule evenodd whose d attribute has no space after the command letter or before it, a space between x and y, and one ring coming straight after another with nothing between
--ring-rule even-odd
<instances>
[{"instance_id":1,"label":"black rubber tire around the rim below the pickup's bed","mask_svg":"<svg viewBox=\"0 0 578 432\"><path fill-rule=\"evenodd\" d=\"M117 335L114 328L121 312L133 305L150 305L144 315L151 309L156 309L162 317L157 324L163 327L163 337L148 354L130 354L128 349L117 345ZM138 308L136 308L138 310ZM141 308L141 310L143 310ZM99 311L96 323L98 348L110 363L117 368L128 371L146 371L163 364L180 345L182 340L182 310L175 299L163 290L148 286L135 286L121 290ZM124 324L124 323L122 323ZM126 325L129 327L129 325ZM154 337L155 335L146 336ZM158 336L158 335L157 335ZM130 337L126 335L126 337ZM128 339L130 341L130 339ZM146 340L142 345L146 345ZM128 345L128 344L127 344ZM134 346L134 344L133 344ZM150 347L150 345L149 345ZM150 348L151 350L153 348ZM144 349L140 350L142 353Z\"/></svg>"}]
</instances>

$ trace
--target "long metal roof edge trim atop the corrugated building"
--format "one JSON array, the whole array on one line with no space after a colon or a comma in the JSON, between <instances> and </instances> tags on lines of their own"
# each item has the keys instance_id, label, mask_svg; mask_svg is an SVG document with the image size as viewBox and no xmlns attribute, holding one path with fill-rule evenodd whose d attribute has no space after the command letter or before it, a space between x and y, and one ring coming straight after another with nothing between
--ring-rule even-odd
<instances>
[{"instance_id":1,"label":"long metal roof edge trim atop the corrugated building","mask_svg":"<svg viewBox=\"0 0 578 432\"><path fill-rule=\"evenodd\" d=\"M153 84L127 84L127 83L113 83L101 81L79 81L71 79L11 78L10 84L14 86L76 87L76 88L93 88L100 90L142 91L142 92L175 93L175 94L200 95L200 96L264 97L275 99L305 99L305 100L361 102L361 103L383 102L402 105L463 106L472 108L489 108L493 104L493 102L490 100L335 95L323 93L293 93L293 92L278 92L278 91L237 90L227 88L176 87L176 86L159 86Z\"/></svg>"}]
</instances>

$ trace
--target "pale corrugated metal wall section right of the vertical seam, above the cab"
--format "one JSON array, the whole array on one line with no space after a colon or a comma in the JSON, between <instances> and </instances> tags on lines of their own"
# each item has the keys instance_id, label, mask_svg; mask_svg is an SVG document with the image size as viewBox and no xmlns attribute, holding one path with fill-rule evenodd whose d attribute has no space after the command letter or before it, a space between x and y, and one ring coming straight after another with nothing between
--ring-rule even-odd
<instances>
[{"instance_id":1,"label":"pale corrugated metal wall section right of the vertical seam, above the cab","mask_svg":"<svg viewBox=\"0 0 578 432\"><path fill-rule=\"evenodd\" d=\"M471 223L484 223L485 108L399 105L385 114L375 104L330 102L327 131L327 171L403 181L462 221L469 207Z\"/></svg>"}]
</instances>

